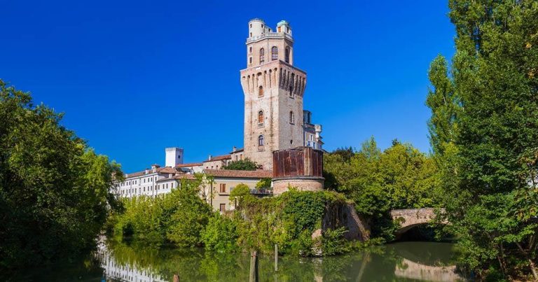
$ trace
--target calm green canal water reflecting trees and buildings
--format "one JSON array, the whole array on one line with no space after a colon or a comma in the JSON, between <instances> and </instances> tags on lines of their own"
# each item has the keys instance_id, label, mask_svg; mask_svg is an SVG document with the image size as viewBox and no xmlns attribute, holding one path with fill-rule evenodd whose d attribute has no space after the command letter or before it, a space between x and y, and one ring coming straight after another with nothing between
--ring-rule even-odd
<instances>
[{"instance_id":1,"label":"calm green canal water reflecting trees and buildings","mask_svg":"<svg viewBox=\"0 0 538 282\"><path fill-rule=\"evenodd\" d=\"M327 258L261 255L260 281L462 281L453 266L454 245L399 242ZM99 243L90 257L25 269L7 281L249 281L246 253L206 253L202 249ZM1 278L1 275L0 275ZM1 279L1 280L4 280Z\"/></svg>"}]
</instances>

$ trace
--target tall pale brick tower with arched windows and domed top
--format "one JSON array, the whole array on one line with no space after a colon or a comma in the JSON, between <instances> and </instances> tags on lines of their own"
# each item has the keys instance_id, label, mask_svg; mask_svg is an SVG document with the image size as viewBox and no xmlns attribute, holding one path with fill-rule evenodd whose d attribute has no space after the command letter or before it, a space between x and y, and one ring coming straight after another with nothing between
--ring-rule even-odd
<instances>
[{"instance_id":1,"label":"tall pale brick tower with arched windows and domed top","mask_svg":"<svg viewBox=\"0 0 538 282\"><path fill-rule=\"evenodd\" d=\"M273 169L273 151L304 146L306 73L294 66L294 38L282 20L275 30L249 22L244 92L244 155Z\"/></svg>"}]
</instances>

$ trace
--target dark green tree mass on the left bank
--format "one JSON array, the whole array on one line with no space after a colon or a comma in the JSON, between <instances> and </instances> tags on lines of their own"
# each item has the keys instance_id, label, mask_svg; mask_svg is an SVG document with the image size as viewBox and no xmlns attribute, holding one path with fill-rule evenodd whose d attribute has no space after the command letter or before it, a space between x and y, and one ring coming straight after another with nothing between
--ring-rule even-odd
<instances>
[{"instance_id":1,"label":"dark green tree mass on the left bank","mask_svg":"<svg viewBox=\"0 0 538 282\"><path fill-rule=\"evenodd\" d=\"M0 269L95 248L122 173L29 93L0 80Z\"/></svg>"}]
</instances>

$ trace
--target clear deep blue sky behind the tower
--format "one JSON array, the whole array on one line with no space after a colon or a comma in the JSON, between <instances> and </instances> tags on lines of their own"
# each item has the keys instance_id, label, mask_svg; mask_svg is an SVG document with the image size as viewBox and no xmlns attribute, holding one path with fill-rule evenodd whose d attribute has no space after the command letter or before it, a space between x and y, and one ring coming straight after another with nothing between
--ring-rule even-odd
<instances>
[{"instance_id":1,"label":"clear deep blue sky behind the tower","mask_svg":"<svg viewBox=\"0 0 538 282\"><path fill-rule=\"evenodd\" d=\"M242 147L247 22L294 30L326 150L375 136L429 151L427 69L453 55L448 1L0 0L0 78L126 172Z\"/></svg>"}]
</instances>

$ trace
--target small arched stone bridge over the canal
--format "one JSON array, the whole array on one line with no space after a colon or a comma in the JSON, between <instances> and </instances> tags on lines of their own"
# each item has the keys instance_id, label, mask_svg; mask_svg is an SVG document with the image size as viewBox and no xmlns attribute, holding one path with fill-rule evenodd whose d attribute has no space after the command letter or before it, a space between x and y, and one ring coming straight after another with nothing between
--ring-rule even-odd
<instances>
[{"instance_id":1,"label":"small arched stone bridge over the canal","mask_svg":"<svg viewBox=\"0 0 538 282\"><path fill-rule=\"evenodd\" d=\"M441 209L442 212L444 212L444 209ZM394 209L390 211L390 216L392 216L392 220L400 223L400 229L396 231L396 237L399 237L399 235L417 225L426 224L434 220L435 209Z\"/></svg>"}]
</instances>

